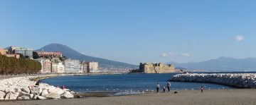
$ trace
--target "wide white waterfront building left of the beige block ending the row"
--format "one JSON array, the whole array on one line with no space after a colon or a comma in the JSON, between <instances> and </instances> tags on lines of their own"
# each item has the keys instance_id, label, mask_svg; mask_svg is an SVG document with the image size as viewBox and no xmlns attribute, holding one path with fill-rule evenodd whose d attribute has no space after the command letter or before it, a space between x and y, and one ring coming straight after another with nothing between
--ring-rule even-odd
<instances>
[{"instance_id":1,"label":"wide white waterfront building left of the beige block ending the row","mask_svg":"<svg viewBox=\"0 0 256 105\"><path fill-rule=\"evenodd\" d=\"M65 73L82 73L80 69L80 61L73 60L73 59L66 59L65 60Z\"/></svg>"}]
</instances>

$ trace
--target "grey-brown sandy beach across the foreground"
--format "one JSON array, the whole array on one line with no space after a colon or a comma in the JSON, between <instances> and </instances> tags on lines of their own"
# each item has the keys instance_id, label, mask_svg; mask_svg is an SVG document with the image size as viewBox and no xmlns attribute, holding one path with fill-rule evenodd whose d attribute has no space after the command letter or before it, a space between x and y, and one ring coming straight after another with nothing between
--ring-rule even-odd
<instances>
[{"instance_id":1,"label":"grey-brown sandy beach across the foreground","mask_svg":"<svg viewBox=\"0 0 256 105\"><path fill-rule=\"evenodd\" d=\"M51 100L28 100L28 101L0 101L1 105L154 105L154 104L174 104L174 105L252 105L256 103L256 89L229 89L229 90L205 90L203 94L199 90L179 90L169 93L149 93L119 97L90 97L84 99L51 99Z\"/></svg>"}]
</instances>

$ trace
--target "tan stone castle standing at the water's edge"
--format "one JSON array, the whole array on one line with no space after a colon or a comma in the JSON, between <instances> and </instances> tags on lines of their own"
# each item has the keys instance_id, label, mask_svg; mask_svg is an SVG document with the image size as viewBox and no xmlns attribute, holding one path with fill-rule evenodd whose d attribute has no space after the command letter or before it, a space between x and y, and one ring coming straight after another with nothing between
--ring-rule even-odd
<instances>
[{"instance_id":1,"label":"tan stone castle standing at the water's edge","mask_svg":"<svg viewBox=\"0 0 256 105\"><path fill-rule=\"evenodd\" d=\"M142 73L174 73L174 65L166 65L164 63L140 63L139 70Z\"/></svg>"}]
</instances>

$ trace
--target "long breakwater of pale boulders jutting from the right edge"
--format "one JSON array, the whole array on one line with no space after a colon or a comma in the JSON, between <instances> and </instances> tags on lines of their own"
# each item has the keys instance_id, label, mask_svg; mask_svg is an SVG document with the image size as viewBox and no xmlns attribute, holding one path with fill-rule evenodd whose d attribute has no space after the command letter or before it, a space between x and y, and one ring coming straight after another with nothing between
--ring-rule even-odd
<instances>
[{"instance_id":1,"label":"long breakwater of pale boulders jutting from the right edge","mask_svg":"<svg viewBox=\"0 0 256 105\"><path fill-rule=\"evenodd\" d=\"M209 82L230 87L255 88L255 73L222 73L222 74L202 74L186 73L174 75L170 81L179 82Z\"/></svg>"}]
</instances>

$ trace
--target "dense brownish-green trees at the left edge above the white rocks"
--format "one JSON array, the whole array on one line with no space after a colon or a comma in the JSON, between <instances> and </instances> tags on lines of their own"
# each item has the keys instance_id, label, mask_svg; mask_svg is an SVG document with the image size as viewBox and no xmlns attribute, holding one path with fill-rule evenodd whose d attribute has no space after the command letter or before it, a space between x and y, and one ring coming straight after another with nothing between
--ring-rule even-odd
<instances>
[{"instance_id":1,"label":"dense brownish-green trees at the left edge above the white rocks","mask_svg":"<svg viewBox=\"0 0 256 105\"><path fill-rule=\"evenodd\" d=\"M26 58L7 57L0 54L0 74L33 74L41 70L41 63Z\"/></svg>"}]
</instances>

